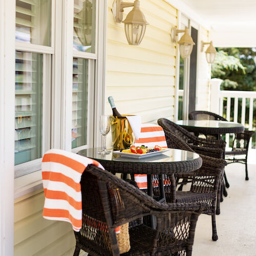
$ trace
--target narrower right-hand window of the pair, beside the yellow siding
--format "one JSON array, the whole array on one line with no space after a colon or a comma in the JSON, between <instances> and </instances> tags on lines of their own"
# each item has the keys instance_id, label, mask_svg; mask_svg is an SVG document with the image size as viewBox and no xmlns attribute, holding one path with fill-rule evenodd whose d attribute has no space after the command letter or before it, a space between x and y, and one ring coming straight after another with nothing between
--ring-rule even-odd
<instances>
[{"instance_id":1,"label":"narrower right-hand window of the pair, beside the yellow siding","mask_svg":"<svg viewBox=\"0 0 256 256\"><path fill-rule=\"evenodd\" d=\"M97 3L96 0L74 0L72 148L92 144L93 131L89 124L93 123L94 115Z\"/></svg>"}]
</instances>

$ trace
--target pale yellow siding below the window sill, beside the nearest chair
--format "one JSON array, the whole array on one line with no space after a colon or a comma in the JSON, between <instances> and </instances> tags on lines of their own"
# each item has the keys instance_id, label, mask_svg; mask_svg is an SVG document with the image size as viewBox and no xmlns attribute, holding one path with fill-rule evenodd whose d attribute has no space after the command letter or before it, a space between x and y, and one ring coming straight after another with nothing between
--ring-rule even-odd
<instances>
[{"instance_id":1,"label":"pale yellow siding below the window sill, beside the nearest chair","mask_svg":"<svg viewBox=\"0 0 256 256\"><path fill-rule=\"evenodd\" d=\"M67 222L42 218L44 192L41 190L15 201L14 255L60 256L72 255L75 237Z\"/></svg>"}]
</instances>

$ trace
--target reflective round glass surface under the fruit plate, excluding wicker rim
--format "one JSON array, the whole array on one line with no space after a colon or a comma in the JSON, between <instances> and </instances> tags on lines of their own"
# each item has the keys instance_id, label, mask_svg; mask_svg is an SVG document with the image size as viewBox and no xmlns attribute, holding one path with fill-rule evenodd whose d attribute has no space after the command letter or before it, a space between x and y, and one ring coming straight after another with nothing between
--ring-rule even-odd
<instances>
[{"instance_id":1,"label":"reflective round glass surface under the fruit plate, excluding wicker rim","mask_svg":"<svg viewBox=\"0 0 256 256\"><path fill-rule=\"evenodd\" d=\"M174 148L169 148L168 151L164 152L163 154L159 154L156 156L149 156L144 158L128 158L124 156L117 155L111 150L109 155L100 155L98 152L101 148L88 148L86 150L81 150L77 154L82 155L84 157L89 157L99 161L119 161L119 162L126 162L126 163L168 163L168 162L183 162L183 161L192 161L200 158L197 153L184 151L184 150L177 150Z\"/></svg>"}]
</instances>

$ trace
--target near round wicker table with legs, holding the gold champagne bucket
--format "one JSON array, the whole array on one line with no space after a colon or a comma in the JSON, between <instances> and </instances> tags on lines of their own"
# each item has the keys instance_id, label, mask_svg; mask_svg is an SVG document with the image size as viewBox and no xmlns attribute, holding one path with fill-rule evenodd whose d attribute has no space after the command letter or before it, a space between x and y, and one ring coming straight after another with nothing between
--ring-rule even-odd
<instances>
[{"instance_id":1,"label":"near round wicker table with legs, holding the gold champagne bucket","mask_svg":"<svg viewBox=\"0 0 256 256\"><path fill-rule=\"evenodd\" d=\"M127 174L131 176L135 174L147 175L147 195L153 197L153 182L159 186L159 195L154 197L159 202L165 202L164 186L166 186L166 178L168 185L171 187L170 198L173 203L176 202L176 181L175 173L192 172L202 165L202 158L193 152L176 150L170 148L163 154L146 157L141 159L127 158L113 153L109 155L98 154L101 148L88 148L81 150L77 154L97 160L109 172L116 174L121 173L125 179ZM155 177L158 175L158 181L155 183ZM154 181L153 181L154 180ZM151 216L152 227L156 228L156 223Z\"/></svg>"}]
</instances>

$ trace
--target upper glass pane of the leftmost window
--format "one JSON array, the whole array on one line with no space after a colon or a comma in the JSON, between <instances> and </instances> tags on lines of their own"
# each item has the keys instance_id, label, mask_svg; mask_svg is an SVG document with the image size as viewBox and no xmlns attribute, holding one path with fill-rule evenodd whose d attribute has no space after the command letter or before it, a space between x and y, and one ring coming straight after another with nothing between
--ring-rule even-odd
<instances>
[{"instance_id":1,"label":"upper glass pane of the leftmost window","mask_svg":"<svg viewBox=\"0 0 256 256\"><path fill-rule=\"evenodd\" d=\"M51 46L51 0L16 0L16 41Z\"/></svg>"}]
</instances>

